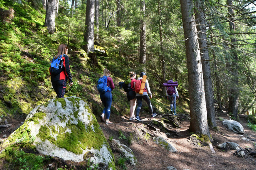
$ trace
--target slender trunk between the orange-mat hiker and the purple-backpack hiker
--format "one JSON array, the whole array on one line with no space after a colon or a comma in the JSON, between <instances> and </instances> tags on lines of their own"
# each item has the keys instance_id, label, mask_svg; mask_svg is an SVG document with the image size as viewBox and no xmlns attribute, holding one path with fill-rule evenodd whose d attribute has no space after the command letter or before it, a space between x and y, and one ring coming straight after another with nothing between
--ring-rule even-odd
<instances>
[{"instance_id":1,"label":"slender trunk between the orange-mat hiker and the purple-backpack hiker","mask_svg":"<svg viewBox=\"0 0 256 170\"><path fill-rule=\"evenodd\" d=\"M158 0L158 15L159 15L159 36L160 36L160 62L162 65L162 83L166 82L165 77L165 61L164 61L164 48L163 48L163 38L162 38L162 19L161 19L161 8L160 0ZM166 95L166 87L162 87L162 96Z\"/></svg>"}]
</instances>

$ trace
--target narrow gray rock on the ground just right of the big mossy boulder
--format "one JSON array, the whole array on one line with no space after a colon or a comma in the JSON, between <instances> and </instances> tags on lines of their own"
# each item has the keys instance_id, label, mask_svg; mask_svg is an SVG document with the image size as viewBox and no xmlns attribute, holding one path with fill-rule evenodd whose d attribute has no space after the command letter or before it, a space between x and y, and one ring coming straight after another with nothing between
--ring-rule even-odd
<instances>
[{"instance_id":1,"label":"narrow gray rock on the ground just right of the big mossy boulder","mask_svg":"<svg viewBox=\"0 0 256 170\"><path fill-rule=\"evenodd\" d=\"M134 156L134 153L132 152L132 150L127 147L124 144L121 144L119 140L112 140L112 146L114 146L114 149L116 152L121 153L129 163L131 163L131 165L135 166L137 163L137 159Z\"/></svg>"}]
</instances>

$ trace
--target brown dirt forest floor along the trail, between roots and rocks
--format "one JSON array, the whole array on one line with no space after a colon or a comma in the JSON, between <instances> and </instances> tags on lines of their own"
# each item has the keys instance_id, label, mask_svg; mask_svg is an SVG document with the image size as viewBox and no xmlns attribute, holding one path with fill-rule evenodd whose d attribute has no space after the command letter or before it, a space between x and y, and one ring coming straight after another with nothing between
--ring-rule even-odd
<instances>
[{"instance_id":1,"label":"brown dirt forest floor along the trail, between roots and rocks","mask_svg":"<svg viewBox=\"0 0 256 170\"><path fill-rule=\"evenodd\" d=\"M226 112L218 113L224 119L229 119L226 116ZM184 114L178 114L178 117L182 117ZM136 167L132 167L126 163L127 169L166 169L169 166L173 166L178 170L183 169L256 169L256 159L253 157L248 158L239 158L234 156L234 150L222 151L217 149L217 145L222 144L223 142L235 142L241 146L241 148L251 148L255 150L255 142L249 140L243 140L242 137L249 137L249 139L256 139L256 133L248 129L246 126L246 119L244 115L239 115L239 122L244 127L244 135L236 134L228 130L220 120L216 120L219 131L211 130L212 138L214 142L212 143L216 153L212 153L208 146L198 147L194 145L193 142L189 141L187 138L191 135L188 131L189 128L189 119L184 119L180 126L182 128L171 129L177 132L177 135L171 135L167 137L163 132L157 132L150 130L147 127L147 124L150 123L153 119L149 117L149 114L142 114L141 117L145 117L143 122L134 121L131 122L125 116L116 117L110 116L110 119L113 120L113 125L105 125L99 122L102 130L105 134L106 139L114 137L114 139L121 140L121 143L129 145L129 142L125 139L119 139L119 132L122 131L125 136L129 136L132 132L136 134L138 129L147 129L152 134L157 134L167 139L167 142L172 144L177 150L177 153L168 152L166 149L163 149L156 145L152 139L147 140L134 140L129 146L134 152L138 163ZM189 117L189 116L188 116ZM160 116L156 117L156 120L159 120ZM121 157L119 153L115 153L115 159Z\"/></svg>"}]
</instances>

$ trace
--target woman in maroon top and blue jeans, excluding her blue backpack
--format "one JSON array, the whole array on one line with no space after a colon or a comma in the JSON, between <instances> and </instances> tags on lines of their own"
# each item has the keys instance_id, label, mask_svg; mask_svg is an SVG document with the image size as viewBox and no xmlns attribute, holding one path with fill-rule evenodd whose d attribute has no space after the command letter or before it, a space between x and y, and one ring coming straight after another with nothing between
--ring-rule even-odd
<instances>
[{"instance_id":1,"label":"woman in maroon top and blue jeans, excluding her blue backpack","mask_svg":"<svg viewBox=\"0 0 256 170\"><path fill-rule=\"evenodd\" d=\"M105 68L103 71L103 76L107 76L107 91L104 93L100 93L100 100L102 101L104 105L104 109L102 111L102 115L100 116L100 120L102 122L105 122L105 124L112 124L112 122L109 121L110 116L110 107L112 104L112 90L115 88L113 79L110 77L110 71ZM106 120L105 120L106 115Z\"/></svg>"}]
</instances>

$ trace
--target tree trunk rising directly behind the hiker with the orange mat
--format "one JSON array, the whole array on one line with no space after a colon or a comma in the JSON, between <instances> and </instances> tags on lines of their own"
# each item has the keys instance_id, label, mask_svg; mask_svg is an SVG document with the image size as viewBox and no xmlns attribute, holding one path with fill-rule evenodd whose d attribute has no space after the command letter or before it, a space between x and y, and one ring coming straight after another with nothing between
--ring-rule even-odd
<instances>
[{"instance_id":1,"label":"tree trunk rising directly behind the hiker with the orange mat","mask_svg":"<svg viewBox=\"0 0 256 170\"><path fill-rule=\"evenodd\" d=\"M141 13L142 13L142 20L141 20L141 38L140 38L140 63L146 64L146 21L145 21L145 0L141 0ZM146 68L144 66L144 71Z\"/></svg>"}]
</instances>

